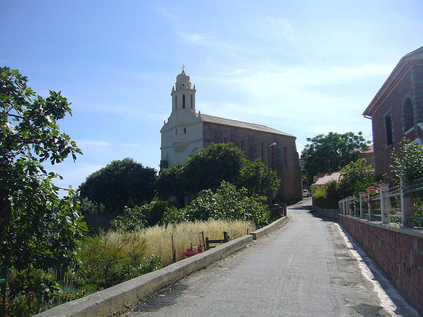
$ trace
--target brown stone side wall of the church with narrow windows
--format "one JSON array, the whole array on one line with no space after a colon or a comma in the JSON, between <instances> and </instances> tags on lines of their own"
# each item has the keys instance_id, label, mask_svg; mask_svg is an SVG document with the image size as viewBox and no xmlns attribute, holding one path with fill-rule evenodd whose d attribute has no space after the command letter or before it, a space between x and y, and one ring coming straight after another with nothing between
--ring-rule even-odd
<instances>
[{"instance_id":1,"label":"brown stone side wall of the church with narrow windows","mask_svg":"<svg viewBox=\"0 0 423 317\"><path fill-rule=\"evenodd\" d=\"M213 123L203 124L204 147L213 143L234 143L249 160L261 159L268 164L268 144L276 142L276 147L270 150L270 166L276 170L281 179L281 186L276 194L275 202L302 199L303 185L301 180L301 166L296 137L280 134L254 131ZM262 156L263 144L263 156ZM286 148L286 156L285 156Z\"/></svg>"}]
</instances>

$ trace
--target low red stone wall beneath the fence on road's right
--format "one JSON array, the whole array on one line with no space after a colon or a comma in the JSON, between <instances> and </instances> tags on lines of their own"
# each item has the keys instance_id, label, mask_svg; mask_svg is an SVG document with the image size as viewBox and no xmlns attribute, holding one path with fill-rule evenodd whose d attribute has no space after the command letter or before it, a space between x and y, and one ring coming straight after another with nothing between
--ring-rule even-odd
<instances>
[{"instance_id":1,"label":"low red stone wall beneath the fence on road's right","mask_svg":"<svg viewBox=\"0 0 423 317\"><path fill-rule=\"evenodd\" d=\"M342 226L423 314L423 238L407 229L339 215ZM410 229L408 229L410 230Z\"/></svg>"}]
</instances>

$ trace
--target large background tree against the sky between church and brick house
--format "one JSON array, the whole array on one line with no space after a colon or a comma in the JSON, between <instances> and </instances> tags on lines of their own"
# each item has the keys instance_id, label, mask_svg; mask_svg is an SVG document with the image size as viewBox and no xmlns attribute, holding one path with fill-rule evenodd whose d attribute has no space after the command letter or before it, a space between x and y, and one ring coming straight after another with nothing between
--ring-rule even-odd
<instances>
[{"instance_id":1,"label":"large background tree against the sky between church and brick house","mask_svg":"<svg viewBox=\"0 0 423 317\"><path fill-rule=\"evenodd\" d=\"M360 153L369 148L370 143L363 138L362 132L357 135L352 132L329 132L306 140L309 144L304 147L301 159L304 160L303 176L308 184L312 184L313 176L319 172L339 171L356 161Z\"/></svg>"}]
</instances>

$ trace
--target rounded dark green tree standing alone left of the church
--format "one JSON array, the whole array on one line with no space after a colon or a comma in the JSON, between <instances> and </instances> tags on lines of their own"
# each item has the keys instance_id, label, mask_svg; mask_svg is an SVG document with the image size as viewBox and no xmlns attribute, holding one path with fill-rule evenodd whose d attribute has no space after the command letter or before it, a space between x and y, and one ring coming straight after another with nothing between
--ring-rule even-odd
<instances>
[{"instance_id":1,"label":"rounded dark green tree standing alone left of the church","mask_svg":"<svg viewBox=\"0 0 423 317\"><path fill-rule=\"evenodd\" d=\"M81 198L103 204L105 210L122 213L125 206L141 206L156 194L156 169L144 167L132 158L113 160L87 176L79 186Z\"/></svg>"}]
</instances>

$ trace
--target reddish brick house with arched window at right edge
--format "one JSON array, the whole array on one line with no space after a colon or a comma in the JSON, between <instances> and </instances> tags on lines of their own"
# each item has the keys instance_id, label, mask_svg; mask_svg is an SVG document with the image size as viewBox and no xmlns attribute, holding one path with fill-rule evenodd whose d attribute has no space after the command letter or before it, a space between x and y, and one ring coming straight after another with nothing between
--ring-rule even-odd
<instances>
[{"instance_id":1,"label":"reddish brick house with arched window at right edge","mask_svg":"<svg viewBox=\"0 0 423 317\"><path fill-rule=\"evenodd\" d=\"M401 143L423 144L423 47L400 60L363 115L372 120L375 172L393 184Z\"/></svg>"}]
</instances>

